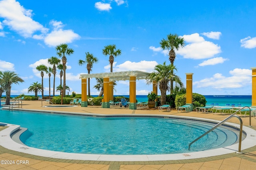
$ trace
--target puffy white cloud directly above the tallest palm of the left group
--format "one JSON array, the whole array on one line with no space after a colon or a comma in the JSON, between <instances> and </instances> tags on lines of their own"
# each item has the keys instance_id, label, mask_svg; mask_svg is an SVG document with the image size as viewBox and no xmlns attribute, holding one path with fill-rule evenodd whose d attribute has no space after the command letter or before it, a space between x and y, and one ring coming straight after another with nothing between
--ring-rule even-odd
<instances>
[{"instance_id":1,"label":"puffy white cloud directly above the tallest palm of the left group","mask_svg":"<svg viewBox=\"0 0 256 170\"><path fill-rule=\"evenodd\" d=\"M54 30L44 38L44 43L46 45L56 46L61 43L72 43L75 39L80 39L80 35L74 33L73 30L63 30L62 22L51 21L50 24L54 26ZM38 37L40 37L40 35L38 35Z\"/></svg>"}]
</instances>

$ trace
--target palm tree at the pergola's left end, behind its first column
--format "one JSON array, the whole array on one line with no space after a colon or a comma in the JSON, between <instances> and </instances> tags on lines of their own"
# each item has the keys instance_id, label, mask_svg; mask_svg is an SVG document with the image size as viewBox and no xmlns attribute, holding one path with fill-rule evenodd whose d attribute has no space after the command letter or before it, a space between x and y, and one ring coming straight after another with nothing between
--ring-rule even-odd
<instances>
[{"instance_id":1,"label":"palm tree at the pergola's left end, behind its first column","mask_svg":"<svg viewBox=\"0 0 256 170\"><path fill-rule=\"evenodd\" d=\"M78 64L80 65L80 66L82 66L83 64L86 64L87 63L87 65L86 65L86 68L87 68L87 70L88 70L88 74L90 74L90 71L92 71L92 66L93 66L93 64L94 63L97 63L98 62L98 59L97 59L97 57L94 57L91 53L89 53L89 52L87 52L87 53L85 53L85 55L86 55L86 58L85 58L85 61L83 61L83 60L79 60L78 61ZM90 94L90 78L88 78L88 96L91 96L91 94Z\"/></svg>"}]
</instances>

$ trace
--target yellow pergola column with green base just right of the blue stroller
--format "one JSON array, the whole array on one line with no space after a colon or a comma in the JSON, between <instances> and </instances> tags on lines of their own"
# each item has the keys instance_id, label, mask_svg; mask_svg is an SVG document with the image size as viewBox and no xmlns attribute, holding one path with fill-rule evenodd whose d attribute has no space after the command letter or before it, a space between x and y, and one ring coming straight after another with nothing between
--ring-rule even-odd
<instances>
[{"instance_id":1,"label":"yellow pergola column with green base just right of the blue stroller","mask_svg":"<svg viewBox=\"0 0 256 170\"><path fill-rule=\"evenodd\" d=\"M130 76L130 104L129 109L137 109L136 104L136 76Z\"/></svg>"}]
</instances>

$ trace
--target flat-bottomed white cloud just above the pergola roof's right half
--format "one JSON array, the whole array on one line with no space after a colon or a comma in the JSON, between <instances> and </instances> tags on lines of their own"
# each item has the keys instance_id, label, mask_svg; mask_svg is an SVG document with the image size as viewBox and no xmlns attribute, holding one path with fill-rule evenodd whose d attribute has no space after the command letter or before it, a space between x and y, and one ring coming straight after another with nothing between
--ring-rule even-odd
<instances>
[{"instance_id":1,"label":"flat-bottomed white cloud just above the pergola roof's right half","mask_svg":"<svg viewBox=\"0 0 256 170\"><path fill-rule=\"evenodd\" d=\"M113 66L113 72L132 71L132 70L152 72L154 70L154 67L157 64L158 63L156 61L140 61L140 62L137 62L137 63L136 62L131 62L131 61L126 61L122 64Z\"/></svg>"}]
</instances>

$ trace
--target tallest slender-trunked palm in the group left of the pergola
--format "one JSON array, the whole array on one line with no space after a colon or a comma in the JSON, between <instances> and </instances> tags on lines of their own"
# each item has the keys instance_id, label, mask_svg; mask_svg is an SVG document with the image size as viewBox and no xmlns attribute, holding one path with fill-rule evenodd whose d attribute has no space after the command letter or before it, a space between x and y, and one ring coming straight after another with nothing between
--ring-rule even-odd
<instances>
[{"instance_id":1,"label":"tallest slender-trunked palm in the group left of the pergola","mask_svg":"<svg viewBox=\"0 0 256 170\"><path fill-rule=\"evenodd\" d=\"M67 44L60 44L56 48L57 55L62 58L63 64L63 96L66 96L66 63L67 58L66 55L71 55L74 53L73 49L68 48Z\"/></svg>"}]
</instances>

